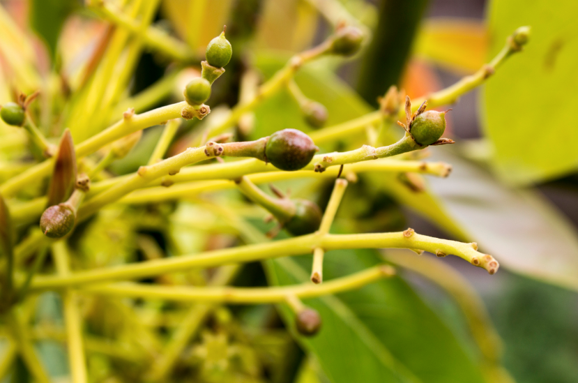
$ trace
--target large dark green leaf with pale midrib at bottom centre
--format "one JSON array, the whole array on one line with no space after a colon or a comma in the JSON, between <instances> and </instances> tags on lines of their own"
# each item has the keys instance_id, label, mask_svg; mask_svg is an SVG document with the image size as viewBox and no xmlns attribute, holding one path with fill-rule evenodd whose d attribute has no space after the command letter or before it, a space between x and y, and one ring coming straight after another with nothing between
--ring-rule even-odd
<instances>
[{"instance_id":1,"label":"large dark green leaf with pale midrib at bottom centre","mask_svg":"<svg viewBox=\"0 0 578 383\"><path fill-rule=\"evenodd\" d=\"M302 283L311 262L311 257L268 262L271 284ZM330 280L378 263L373 250L332 251L324 276ZM323 326L317 336L298 339L334 383L482 382L453 333L401 278L305 304L319 311ZM294 314L283 307L282 316L292 328Z\"/></svg>"}]
</instances>

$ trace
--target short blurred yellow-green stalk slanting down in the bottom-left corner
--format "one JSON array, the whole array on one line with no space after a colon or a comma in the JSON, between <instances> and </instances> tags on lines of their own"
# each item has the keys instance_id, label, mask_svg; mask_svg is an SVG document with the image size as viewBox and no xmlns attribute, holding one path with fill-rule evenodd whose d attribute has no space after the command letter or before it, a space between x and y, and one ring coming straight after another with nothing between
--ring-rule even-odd
<instances>
[{"instance_id":1,"label":"short blurred yellow-green stalk slanting down in the bottom-left corner","mask_svg":"<svg viewBox=\"0 0 578 383\"><path fill-rule=\"evenodd\" d=\"M24 323L22 317L17 313L17 308L13 308L6 315L6 322L10 326L10 334L16 344L17 350L22 356L22 360L26 364L26 367L30 371L34 380L38 383L50 383L50 378L46 373L46 370L40 363L34 347L30 342L27 330L24 328Z\"/></svg>"}]
</instances>

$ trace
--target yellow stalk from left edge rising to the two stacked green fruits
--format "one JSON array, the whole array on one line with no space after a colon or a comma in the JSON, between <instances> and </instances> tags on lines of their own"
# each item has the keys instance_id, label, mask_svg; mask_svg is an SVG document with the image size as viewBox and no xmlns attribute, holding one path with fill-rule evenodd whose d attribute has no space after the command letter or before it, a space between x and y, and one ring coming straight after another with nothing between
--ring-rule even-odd
<instances>
[{"instance_id":1,"label":"yellow stalk from left edge rising to the two stacked green fruits","mask_svg":"<svg viewBox=\"0 0 578 383\"><path fill-rule=\"evenodd\" d=\"M94 135L88 140L76 145L76 156L77 158L88 156L101 147L119 140L121 137L130 135L130 133L135 133L137 130L149 128L151 126L159 125L163 121L181 117L181 111L183 110L187 110L192 114L196 113L192 107L190 107L185 101L182 101L181 103L159 107L158 109L144 112L142 114L135 114L129 119L123 118L114 123L114 125L109 126L109 128L102 130L102 132L97 135ZM22 172L16 177L3 183L2 186L0 186L0 193L2 193L4 197L12 197L19 190L22 190L22 188L29 185L29 183L39 182L43 177L47 177L52 171L53 165L54 160L48 159L43 163L31 167L25 172Z\"/></svg>"}]
</instances>

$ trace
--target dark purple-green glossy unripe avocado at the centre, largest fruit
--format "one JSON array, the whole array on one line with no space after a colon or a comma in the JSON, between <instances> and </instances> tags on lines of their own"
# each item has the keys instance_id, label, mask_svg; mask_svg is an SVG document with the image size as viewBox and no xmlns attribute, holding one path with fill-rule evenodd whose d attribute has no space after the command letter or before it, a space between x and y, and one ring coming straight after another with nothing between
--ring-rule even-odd
<instances>
[{"instance_id":1,"label":"dark purple-green glossy unripe avocado at the centre, largest fruit","mask_svg":"<svg viewBox=\"0 0 578 383\"><path fill-rule=\"evenodd\" d=\"M283 129L269 137L265 156L280 170L299 170L311 162L318 149L301 130Z\"/></svg>"}]
</instances>

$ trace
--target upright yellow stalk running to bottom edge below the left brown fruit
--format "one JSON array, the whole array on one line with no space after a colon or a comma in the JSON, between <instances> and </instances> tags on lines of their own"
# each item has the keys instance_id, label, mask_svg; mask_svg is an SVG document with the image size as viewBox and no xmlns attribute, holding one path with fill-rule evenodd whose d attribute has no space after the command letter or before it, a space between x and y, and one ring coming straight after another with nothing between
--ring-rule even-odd
<instances>
[{"instance_id":1,"label":"upright yellow stalk running to bottom edge below the left brown fruit","mask_svg":"<svg viewBox=\"0 0 578 383\"><path fill-rule=\"evenodd\" d=\"M56 241L52 245L52 255L56 270L61 276L70 273L70 255L65 241ZM86 383L86 356L84 355L84 343L82 340L82 322L77 306L77 293L66 290L63 292L64 323L66 324L66 336L68 338L68 363L73 383Z\"/></svg>"}]
</instances>

